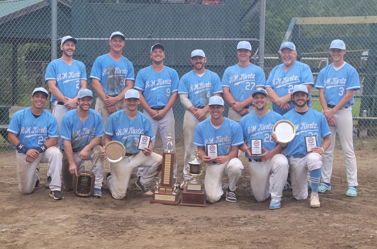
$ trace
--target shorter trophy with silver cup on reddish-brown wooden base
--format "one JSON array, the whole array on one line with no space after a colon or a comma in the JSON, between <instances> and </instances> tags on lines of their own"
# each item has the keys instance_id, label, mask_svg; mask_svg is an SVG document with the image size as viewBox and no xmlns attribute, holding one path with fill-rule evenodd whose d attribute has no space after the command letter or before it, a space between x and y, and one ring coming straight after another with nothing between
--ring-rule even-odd
<instances>
[{"instance_id":1,"label":"shorter trophy with silver cup on reddish-brown wooden base","mask_svg":"<svg viewBox=\"0 0 377 249\"><path fill-rule=\"evenodd\" d=\"M207 206L205 189L196 180L204 171L204 167L200 169L201 162L199 161L198 149L195 149L191 158L192 160L189 161L190 167L186 166L186 170L193 177L193 180L189 181L185 186L179 206L205 207Z\"/></svg>"}]
</instances>

